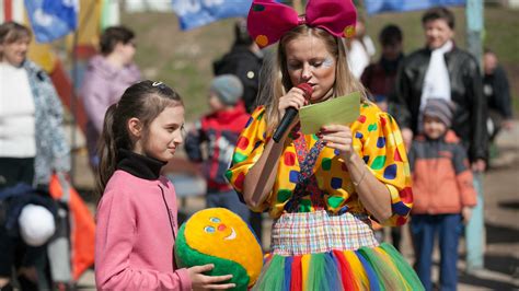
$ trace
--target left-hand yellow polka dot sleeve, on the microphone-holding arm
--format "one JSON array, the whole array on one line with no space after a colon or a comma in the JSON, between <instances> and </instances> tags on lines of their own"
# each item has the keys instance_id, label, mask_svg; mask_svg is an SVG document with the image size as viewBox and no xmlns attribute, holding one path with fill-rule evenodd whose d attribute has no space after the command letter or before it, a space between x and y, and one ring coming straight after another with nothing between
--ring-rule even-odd
<instances>
[{"instance_id":1,"label":"left-hand yellow polka dot sleeve, on the microphone-holding arm","mask_svg":"<svg viewBox=\"0 0 519 291\"><path fill-rule=\"evenodd\" d=\"M241 196L243 182L249 170L256 163L265 149L266 123L264 118L265 107L257 107L251 115L245 128L238 138L237 147L232 155L232 163L226 173L227 179ZM268 201L268 198L265 200ZM254 211L264 211L268 203L260 206Z\"/></svg>"}]
</instances>

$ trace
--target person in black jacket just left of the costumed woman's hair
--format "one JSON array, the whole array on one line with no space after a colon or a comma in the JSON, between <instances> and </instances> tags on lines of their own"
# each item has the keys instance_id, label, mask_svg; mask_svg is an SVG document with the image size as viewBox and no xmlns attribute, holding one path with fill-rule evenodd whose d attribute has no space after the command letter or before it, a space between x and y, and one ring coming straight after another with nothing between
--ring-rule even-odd
<instances>
[{"instance_id":1,"label":"person in black jacket just left of the costumed woman's hair","mask_svg":"<svg viewBox=\"0 0 519 291\"><path fill-rule=\"evenodd\" d=\"M231 51L212 63L214 72L215 75L234 74L242 81L245 109L251 113L255 107L263 53L249 35L245 20L235 23L234 36Z\"/></svg>"}]
</instances>

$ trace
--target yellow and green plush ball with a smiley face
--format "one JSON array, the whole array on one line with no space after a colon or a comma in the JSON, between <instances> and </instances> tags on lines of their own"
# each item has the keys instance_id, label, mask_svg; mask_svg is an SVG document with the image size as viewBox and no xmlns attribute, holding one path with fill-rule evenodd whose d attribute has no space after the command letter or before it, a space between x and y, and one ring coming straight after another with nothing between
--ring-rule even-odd
<instances>
[{"instance_id":1,"label":"yellow and green plush ball with a smiley face","mask_svg":"<svg viewBox=\"0 0 519 291\"><path fill-rule=\"evenodd\" d=\"M210 276L231 273L235 290L247 290L260 276L263 253L249 225L224 208L209 208L182 224L175 242L180 267L214 264Z\"/></svg>"}]
</instances>

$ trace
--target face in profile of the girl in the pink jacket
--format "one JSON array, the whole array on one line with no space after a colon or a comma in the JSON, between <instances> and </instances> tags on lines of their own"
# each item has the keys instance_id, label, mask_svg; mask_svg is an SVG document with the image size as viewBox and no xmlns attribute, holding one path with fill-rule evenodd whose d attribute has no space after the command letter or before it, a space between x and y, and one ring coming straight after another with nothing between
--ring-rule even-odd
<instances>
[{"instance_id":1,"label":"face in profile of the girl in the pink jacket","mask_svg":"<svg viewBox=\"0 0 519 291\"><path fill-rule=\"evenodd\" d=\"M184 141L183 130L184 106L176 104L166 107L151 121L146 139L142 141L142 152L138 153L163 162L170 161L178 144Z\"/></svg>"}]
</instances>

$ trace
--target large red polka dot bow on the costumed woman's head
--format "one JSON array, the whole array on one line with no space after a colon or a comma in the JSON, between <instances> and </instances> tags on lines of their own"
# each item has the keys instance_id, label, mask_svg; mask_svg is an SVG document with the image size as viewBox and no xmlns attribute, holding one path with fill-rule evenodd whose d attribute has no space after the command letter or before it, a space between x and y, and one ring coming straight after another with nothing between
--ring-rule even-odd
<instances>
[{"instance_id":1,"label":"large red polka dot bow on the costumed woman's head","mask_svg":"<svg viewBox=\"0 0 519 291\"><path fill-rule=\"evenodd\" d=\"M305 15L274 0L254 0L247 16L249 34L260 47L279 40L293 27L307 24L337 37L355 35L357 11L351 0L309 0Z\"/></svg>"}]
</instances>

